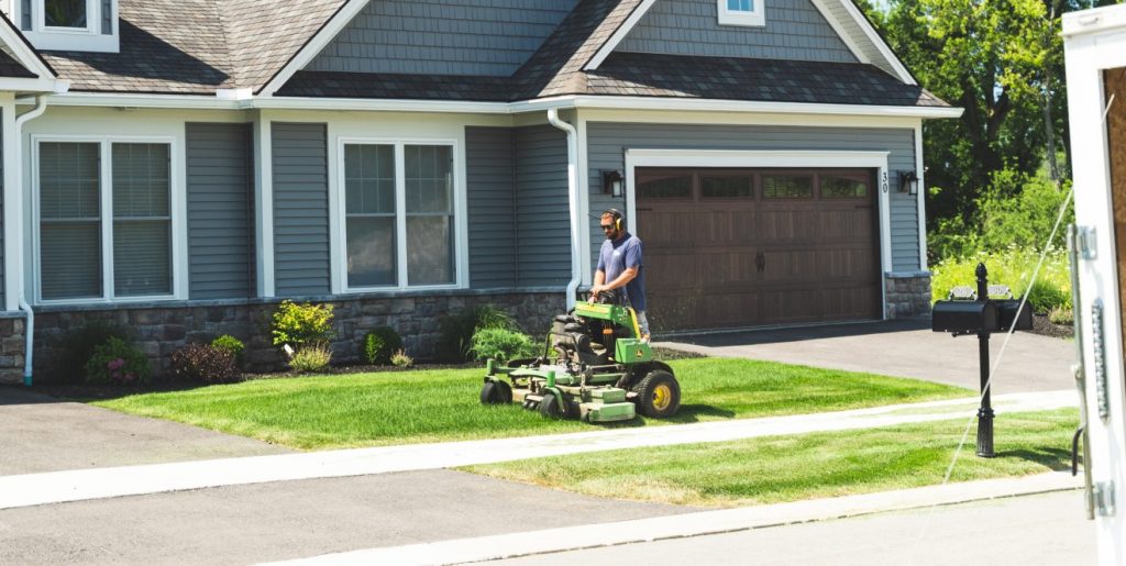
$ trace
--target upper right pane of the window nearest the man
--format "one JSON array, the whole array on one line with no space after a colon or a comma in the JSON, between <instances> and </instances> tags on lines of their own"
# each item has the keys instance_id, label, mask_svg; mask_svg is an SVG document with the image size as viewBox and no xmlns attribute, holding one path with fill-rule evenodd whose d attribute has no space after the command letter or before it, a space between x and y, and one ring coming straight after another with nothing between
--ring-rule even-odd
<instances>
[{"instance_id":1,"label":"upper right pane of the window nearest the man","mask_svg":"<svg viewBox=\"0 0 1126 566\"><path fill-rule=\"evenodd\" d=\"M408 145L404 151L406 212L453 213L454 149L448 145Z\"/></svg>"}]
</instances>

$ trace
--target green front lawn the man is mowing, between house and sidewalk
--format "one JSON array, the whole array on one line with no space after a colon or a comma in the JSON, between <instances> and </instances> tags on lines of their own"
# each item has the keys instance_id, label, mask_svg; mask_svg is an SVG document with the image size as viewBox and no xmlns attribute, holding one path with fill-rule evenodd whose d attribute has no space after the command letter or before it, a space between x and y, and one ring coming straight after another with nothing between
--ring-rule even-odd
<instances>
[{"instance_id":1,"label":"green front lawn the man is mowing, between house and sidewalk","mask_svg":"<svg viewBox=\"0 0 1126 566\"><path fill-rule=\"evenodd\" d=\"M610 425L547 420L518 404L479 402L484 369L258 379L148 393L95 404L312 450L722 421L913 403L973 393L958 387L739 359L669 362L680 413Z\"/></svg>"}]
</instances>

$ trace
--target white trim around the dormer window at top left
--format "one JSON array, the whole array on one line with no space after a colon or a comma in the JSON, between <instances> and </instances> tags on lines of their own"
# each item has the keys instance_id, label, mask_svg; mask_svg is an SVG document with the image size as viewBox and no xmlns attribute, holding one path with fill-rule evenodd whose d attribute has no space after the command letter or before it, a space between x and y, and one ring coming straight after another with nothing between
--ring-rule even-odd
<instances>
[{"instance_id":1,"label":"white trim around the dormer window at top left","mask_svg":"<svg viewBox=\"0 0 1126 566\"><path fill-rule=\"evenodd\" d=\"M15 2L14 6L16 10L12 21L18 25L23 18L23 15L19 14L23 2ZM30 15L32 29L24 30L23 33L37 50L117 53L119 51L119 29L116 0L110 2L110 10L113 14L110 14L109 21L113 29L109 34L101 33L104 15L101 12L100 0L86 0L84 28L48 27L46 24L44 0L33 0Z\"/></svg>"}]
</instances>

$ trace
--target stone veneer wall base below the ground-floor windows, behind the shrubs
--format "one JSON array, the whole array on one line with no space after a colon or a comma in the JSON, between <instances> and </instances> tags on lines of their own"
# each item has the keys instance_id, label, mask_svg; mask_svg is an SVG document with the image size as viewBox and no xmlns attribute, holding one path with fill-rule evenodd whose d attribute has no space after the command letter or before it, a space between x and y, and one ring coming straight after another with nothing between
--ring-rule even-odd
<instances>
[{"instance_id":1,"label":"stone veneer wall base below the ground-floor windows, behind the shrubs","mask_svg":"<svg viewBox=\"0 0 1126 566\"><path fill-rule=\"evenodd\" d=\"M376 326L391 326L403 336L403 347L415 359L435 356L438 320L447 313L480 304L508 311L526 332L540 334L554 315L565 308L562 291L450 293L397 297L314 297L298 302L329 303L334 306L332 342L333 363L360 363L364 336ZM247 344L245 359L252 371L285 368L282 353L270 343L270 322L280 299L243 302L180 303L116 307L42 307L35 313L36 381L50 381L56 371L74 368L52 367L57 339L71 329L92 321L105 321L132 329L141 349L153 363L153 375L164 377L169 354L189 342L211 341L231 334ZM24 318L0 317L0 383L23 381Z\"/></svg>"}]
</instances>

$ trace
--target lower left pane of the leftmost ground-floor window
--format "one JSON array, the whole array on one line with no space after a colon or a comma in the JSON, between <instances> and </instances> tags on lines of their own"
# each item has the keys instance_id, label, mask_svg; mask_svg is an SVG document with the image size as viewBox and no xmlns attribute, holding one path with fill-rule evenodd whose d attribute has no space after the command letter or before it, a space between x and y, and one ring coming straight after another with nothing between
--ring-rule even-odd
<instances>
[{"instance_id":1,"label":"lower left pane of the leftmost ground-floor window","mask_svg":"<svg viewBox=\"0 0 1126 566\"><path fill-rule=\"evenodd\" d=\"M101 293L101 223L45 222L39 227L43 298L89 298Z\"/></svg>"}]
</instances>

